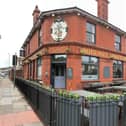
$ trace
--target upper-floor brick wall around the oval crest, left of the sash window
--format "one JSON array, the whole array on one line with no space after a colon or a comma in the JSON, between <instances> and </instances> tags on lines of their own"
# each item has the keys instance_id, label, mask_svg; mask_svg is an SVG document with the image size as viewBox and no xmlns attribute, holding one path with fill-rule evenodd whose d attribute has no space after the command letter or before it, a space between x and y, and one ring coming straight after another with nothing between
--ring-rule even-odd
<instances>
[{"instance_id":1,"label":"upper-floor brick wall around the oval crest, left of the sash window","mask_svg":"<svg viewBox=\"0 0 126 126\"><path fill-rule=\"evenodd\" d=\"M85 20L82 17L78 17L75 14L63 15L63 19L68 25L68 34L62 42L73 42L78 41L82 42L85 40L85 29L84 23ZM56 17L46 18L43 23L43 42L44 44L55 42L50 34L51 25Z\"/></svg>"}]
</instances>

